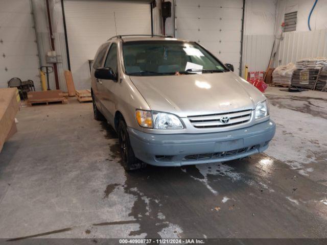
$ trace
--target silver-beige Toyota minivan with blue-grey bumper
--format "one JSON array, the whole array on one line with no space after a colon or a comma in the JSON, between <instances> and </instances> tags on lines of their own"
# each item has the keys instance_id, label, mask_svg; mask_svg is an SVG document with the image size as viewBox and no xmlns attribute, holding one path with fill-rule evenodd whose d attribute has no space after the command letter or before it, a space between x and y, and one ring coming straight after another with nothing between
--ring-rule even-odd
<instances>
[{"instance_id":1,"label":"silver-beige Toyota minivan with blue-grey bumper","mask_svg":"<svg viewBox=\"0 0 327 245\"><path fill-rule=\"evenodd\" d=\"M266 97L196 42L115 36L91 67L94 116L118 133L123 166L222 162L263 152Z\"/></svg>"}]
</instances>

